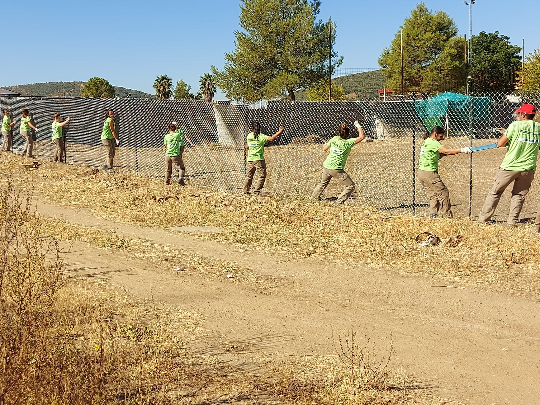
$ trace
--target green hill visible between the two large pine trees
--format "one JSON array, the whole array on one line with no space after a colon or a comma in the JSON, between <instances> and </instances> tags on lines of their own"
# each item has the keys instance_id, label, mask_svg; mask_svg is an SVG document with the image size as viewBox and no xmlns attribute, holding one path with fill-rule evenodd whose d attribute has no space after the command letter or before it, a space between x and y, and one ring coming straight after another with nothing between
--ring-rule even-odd
<instances>
[{"instance_id":1,"label":"green hill visible between the two large pine trees","mask_svg":"<svg viewBox=\"0 0 540 405\"><path fill-rule=\"evenodd\" d=\"M382 70L371 72L354 73L353 75L339 76L332 79L332 83L340 84L345 90L345 94L356 94L353 100L365 100L375 98L379 95L379 90L384 87L386 78L382 76ZM301 90L296 93L296 100L306 101L306 91Z\"/></svg>"}]
</instances>

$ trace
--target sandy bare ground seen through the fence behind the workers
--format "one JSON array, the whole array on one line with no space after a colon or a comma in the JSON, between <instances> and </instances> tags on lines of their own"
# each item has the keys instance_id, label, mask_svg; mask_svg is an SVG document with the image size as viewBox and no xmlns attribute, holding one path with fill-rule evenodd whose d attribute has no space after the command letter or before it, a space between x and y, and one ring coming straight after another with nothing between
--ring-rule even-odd
<instances>
[{"instance_id":1,"label":"sandy bare ground seen through the fence behind the workers","mask_svg":"<svg viewBox=\"0 0 540 405\"><path fill-rule=\"evenodd\" d=\"M475 146L493 143L494 139L476 140ZM464 138L445 140L447 147L468 145ZM427 215L428 198L421 184L413 187L413 149L419 157L421 139L409 138L363 142L356 146L347 161L346 170L355 180L356 191L351 205L368 205L395 213ZM36 145L36 157L49 159L53 145L41 141ZM83 166L102 166L105 158L100 146L68 144L68 163ZM493 178L504 157L504 149L489 149L473 155L472 216L475 217L493 184ZM134 174L163 177L163 149L118 148L114 164L120 170ZM277 195L310 195L319 183L322 163L327 152L320 145L299 144L272 146L265 149L268 175L265 192ZM186 181L197 187L240 191L244 182L244 150L219 144L197 145L187 148L184 154L187 167ZM469 215L470 155L444 157L440 170L450 191L455 215ZM332 181L323 197L341 193L341 184ZM413 190L415 191L413 195ZM535 217L540 202L536 182L525 200L522 211L524 220ZM417 205L413 208L413 201ZM509 211L510 188L504 193L495 220L505 221Z\"/></svg>"}]
</instances>

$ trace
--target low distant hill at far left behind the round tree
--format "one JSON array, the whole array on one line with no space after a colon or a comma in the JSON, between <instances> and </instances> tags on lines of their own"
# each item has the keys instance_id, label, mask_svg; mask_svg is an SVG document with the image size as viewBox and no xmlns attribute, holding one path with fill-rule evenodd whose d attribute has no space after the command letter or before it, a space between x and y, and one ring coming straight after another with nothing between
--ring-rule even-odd
<instances>
[{"instance_id":1,"label":"low distant hill at far left behind the round tree","mask_svg":"<svg viewBox=\"0 0 540 405\"><path fill-rule=\"evenodd\" d=\"M19 84L17 86L4 86L6 89L16 91L23 96L52 96L52 97L80 97L80 89L85 82L50 82ZM155 96L125 87L114 86L116 97L127 97L131 93L132 98L154 98Z\"/></svg>"}]
</instances>

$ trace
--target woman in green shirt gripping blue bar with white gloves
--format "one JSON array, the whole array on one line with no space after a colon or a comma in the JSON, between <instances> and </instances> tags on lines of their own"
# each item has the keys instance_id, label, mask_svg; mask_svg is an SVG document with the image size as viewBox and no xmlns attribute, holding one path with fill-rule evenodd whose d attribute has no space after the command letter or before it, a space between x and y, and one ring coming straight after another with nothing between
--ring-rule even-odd
<instances>
[{"instance_id":1,"label":"woman in green shirt gripping blue bar with white gloves","mask_svg":"<svg viewBox=\"0 0 540 405\"><path fill-rule=\"evenodd\" d=\"M443 139L444 129L436 126L424 134L424 143L420 147L418 179L428 194L431 218L437 218L439 215L443 218L451 218L453 215L450 193L438 174L439 159L458 153L473 153L468 146L461 149L448 149L441 144Z\"/></svg>"}]
</instances>

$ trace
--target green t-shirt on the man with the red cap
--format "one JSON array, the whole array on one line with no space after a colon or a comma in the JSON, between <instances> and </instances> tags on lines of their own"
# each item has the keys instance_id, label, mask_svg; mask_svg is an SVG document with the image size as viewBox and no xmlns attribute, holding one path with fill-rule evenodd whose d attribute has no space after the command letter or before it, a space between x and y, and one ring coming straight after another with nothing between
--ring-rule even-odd
<instances>
[{"instance_id":1,"label":"green t-shirt on the man with the red cap","mask_svg":"<svg viewBox=\"0 0 540 405\"><path fill-rule=\"evenodd\" d=\"M532 120L510 124L505 135L510 141L501 168L504 170L536 170L540 146L540 124Z\"/></svg>"}]
</instances>

